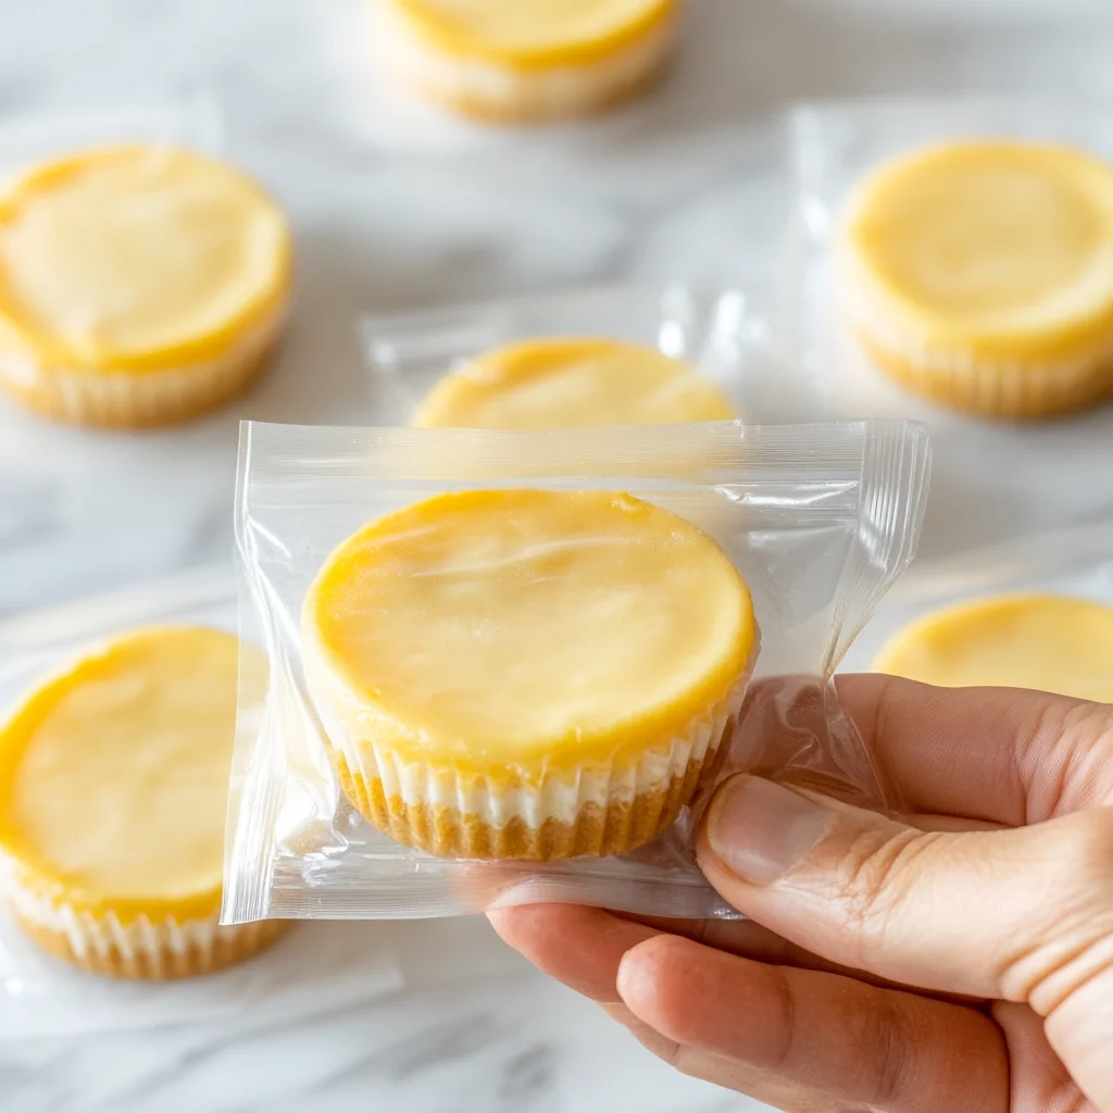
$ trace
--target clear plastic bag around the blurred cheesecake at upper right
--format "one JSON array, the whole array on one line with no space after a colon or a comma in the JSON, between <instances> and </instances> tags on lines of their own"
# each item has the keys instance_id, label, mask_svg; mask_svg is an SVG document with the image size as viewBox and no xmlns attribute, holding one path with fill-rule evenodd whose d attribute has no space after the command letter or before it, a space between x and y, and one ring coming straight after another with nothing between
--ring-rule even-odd
<instances>
[{"instance_id":1,"label":"clear plastic bag around the blurred cheesecake at upper right","mask_svg":"<svg viewBox=\"0 0 1113 1113\"><path fill-rule=\"evenodd\" d=\"M1113 161L1111 107L1100 99L952 96L817 102L789 115L794 218L774 316L785 358L807 373L817 412L912 414L933 424L946 415L874 367L845 325L835 249L847 198L863 177L900 154L962 139L1063 144Z\"/></svg>"}]
</instances>

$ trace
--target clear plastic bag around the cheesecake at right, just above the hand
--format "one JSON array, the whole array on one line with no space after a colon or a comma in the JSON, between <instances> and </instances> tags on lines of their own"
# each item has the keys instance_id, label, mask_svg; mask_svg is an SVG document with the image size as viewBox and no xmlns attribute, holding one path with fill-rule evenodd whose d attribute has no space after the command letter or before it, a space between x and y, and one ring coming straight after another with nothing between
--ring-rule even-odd
<instances>
[{"instance_id":1,"label":"clear plastic bag around the cheesecake at right, just above the hand","mask_svg":"<svg viewBox=\"0 0 1113 1113\"><path fill-rule=\"evenodd\" d=\"M955 603L1041 591L1113 605L1113 518L922 561L886 597L844 661L868 671L881 647L922 615Z\"/></svg>"}]
</instances>

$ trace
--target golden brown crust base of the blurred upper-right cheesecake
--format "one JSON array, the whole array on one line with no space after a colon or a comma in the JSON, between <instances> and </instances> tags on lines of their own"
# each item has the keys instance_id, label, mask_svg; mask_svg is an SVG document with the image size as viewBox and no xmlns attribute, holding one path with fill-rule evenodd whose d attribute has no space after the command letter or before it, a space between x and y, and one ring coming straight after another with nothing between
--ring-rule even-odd
<instances>
[{"instance_id":1,"label":"golden brown crust base of the blurred upper-right cheesecake","mask_svg":"<svg viewBox=\"0 0 1113 1113\"><path fill-rule=\"evenodd\" d=\"M1001 371L993 366L946 372L929 368L877 343L860 327L858 342L870 361L890 378L939 405L983 417L1037 421L1097 405L1113 396L1113 362L1095 354L1076 371L1032 367Z\"/></svg>"}]
</instances>

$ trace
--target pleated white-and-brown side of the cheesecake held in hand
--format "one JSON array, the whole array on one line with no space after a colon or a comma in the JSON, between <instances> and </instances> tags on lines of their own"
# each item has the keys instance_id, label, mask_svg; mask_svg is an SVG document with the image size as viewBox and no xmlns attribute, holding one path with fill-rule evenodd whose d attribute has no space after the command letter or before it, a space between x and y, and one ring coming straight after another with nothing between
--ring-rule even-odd
<instances>
[{"instance_id":1,"label":"pleated white-and-brown side of the cheesecake held in hand","mask_svg":"<svg viewBox=\"0 0 1113 1113\"><path fill-rule=\"evenodd\" d=\"M622 854L677 818L737 720L749 673L680 736L637 760L506 785L401 761L329 730L345 794L380 830L449 857L551 860Z\"/></svg>"}]
</instances>

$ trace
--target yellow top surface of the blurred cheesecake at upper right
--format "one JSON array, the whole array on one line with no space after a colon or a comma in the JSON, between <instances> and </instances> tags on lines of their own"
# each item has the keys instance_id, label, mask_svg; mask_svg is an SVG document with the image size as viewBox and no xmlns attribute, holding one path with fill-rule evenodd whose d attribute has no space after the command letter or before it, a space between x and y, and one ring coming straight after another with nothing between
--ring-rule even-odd
<instances>
[{"instance_id":1,"label":"yellow top surface of the blurred cheesecake at upper right","mask_svg":"<svg viewBox=\"0 0 1113 1113\"><path fill-rule=\"evenodd\" d=\"M859 188L846 239L867 296L932 336L1055 354L1113 328L1113 168L1081 151L916 151Z\"/></svg>"}]
</instances>

